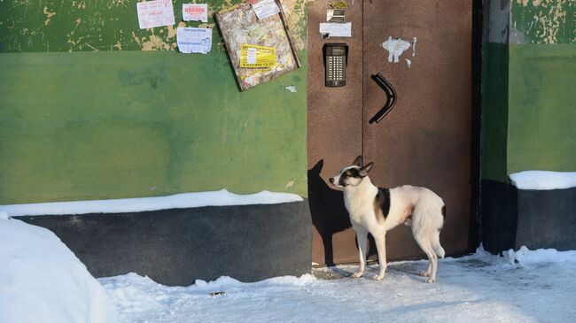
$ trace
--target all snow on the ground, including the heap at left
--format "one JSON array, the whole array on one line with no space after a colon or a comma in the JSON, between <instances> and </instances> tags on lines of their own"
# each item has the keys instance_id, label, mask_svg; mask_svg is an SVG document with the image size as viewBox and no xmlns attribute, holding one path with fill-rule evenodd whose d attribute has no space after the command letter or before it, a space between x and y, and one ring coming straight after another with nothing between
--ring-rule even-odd
<instances>
[{"instance_id":1,"label":"all snow on the ground, including the heap at left","mask_svg":"<svg viewBox=\"0 0 576 323\"><path fill-rule=\"evenodd\" d=\"M0 212L0 322L574 322L576 251L481 247L427 262L390 263L384 281L357 266L244 283L230 277L167 287L136 273L95 280L49 230ZM370 265L365 277L377 273ZM99 283L98 283L99 282Z\"/></svg>"}]
</instances>

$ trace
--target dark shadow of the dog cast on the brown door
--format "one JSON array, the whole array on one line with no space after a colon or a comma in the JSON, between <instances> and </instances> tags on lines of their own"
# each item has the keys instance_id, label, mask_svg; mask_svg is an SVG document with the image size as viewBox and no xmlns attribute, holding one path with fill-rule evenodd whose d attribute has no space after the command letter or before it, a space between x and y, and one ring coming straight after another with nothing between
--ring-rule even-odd
<instances>
[{"instance_id":1,"label":"dark shadow of the dog cast on the brown door","mask_svg":"<svg viewBox=\"0 0 576 323\"><path fill-rule=\"evenodd\" d=\"M314 167L308 170L308 203L312 214L312 224L320 234L324 247L324 264L334 264L334 246L332 236L352 227L348 211L344 206L342 191L329 186L320 176L324 160L320 159ZM335 174L334 174L335 175ZM375 254L375 244L369 236L369 256ZM357 242L356 249L358 248ZM354 255L357 258L357 254Z\"/></svg>"}]
</instances>

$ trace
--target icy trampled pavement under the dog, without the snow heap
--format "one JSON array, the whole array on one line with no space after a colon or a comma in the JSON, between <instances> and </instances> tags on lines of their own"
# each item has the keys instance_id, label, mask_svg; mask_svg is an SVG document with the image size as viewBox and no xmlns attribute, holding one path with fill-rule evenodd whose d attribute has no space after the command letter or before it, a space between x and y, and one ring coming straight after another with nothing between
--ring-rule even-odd
<instances>
[{"instance_id":1,"label":"icy trampled pavement under the dog, without the snow heap","mask_svg":"<svg viewBox=\"0 0 576 323\"><path fill-rule=\"evenodd\" d=\"M518 262L519 261L519 262ZM576 251L479 250L440 260L438 282L424 261L388 265L383 281L312 275L242 283L228 277L166 287L130 273L100 279L121 322L575 322ZM347 276L355 266L318 276ZM370 266L366 277L376 273ZM213 292L225 295L210 296Z\"/></svg>"}]
</instances>

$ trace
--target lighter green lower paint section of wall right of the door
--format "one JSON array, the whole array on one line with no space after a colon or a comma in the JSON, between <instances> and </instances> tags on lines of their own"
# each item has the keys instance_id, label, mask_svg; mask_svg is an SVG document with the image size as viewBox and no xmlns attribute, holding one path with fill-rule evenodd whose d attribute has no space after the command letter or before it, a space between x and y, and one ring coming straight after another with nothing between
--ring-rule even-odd
<instances>
[{"instance_id":1,"label":"lighter green lower paint section of wall right of the door","mask_svg":"<svg viewBox=\"0 0 576 323\"><path fill-rule=\"evenodd\" d=\"M576 45L510 45L508 173L576 171Z\"/></svg>"}]
</instances>

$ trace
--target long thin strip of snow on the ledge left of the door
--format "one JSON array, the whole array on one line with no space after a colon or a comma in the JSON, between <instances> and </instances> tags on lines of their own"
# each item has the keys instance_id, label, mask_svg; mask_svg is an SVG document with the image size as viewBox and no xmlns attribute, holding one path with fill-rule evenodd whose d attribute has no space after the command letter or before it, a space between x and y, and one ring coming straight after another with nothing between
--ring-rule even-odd
<instances>
[{"instance_id":1,"label":"long thin strip of snow on the ledge left of the door","mask_svg":"<svg viewBox=\"0 0 576 323\"><path fill-rule=\"evenodd\" d=\"M22 215L62 215L86 213L122 213L182 209L201 206L280 204L303 201L302 197L291 193L273 193L263 190L260 193L237 195L226 189L209 192L183 193L173 196L121 198L112 200L50 202L38 204L0 205L12 217Z\"/></svg>"}]
</instances>

